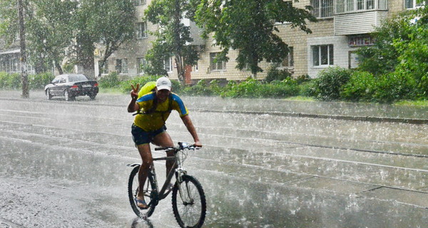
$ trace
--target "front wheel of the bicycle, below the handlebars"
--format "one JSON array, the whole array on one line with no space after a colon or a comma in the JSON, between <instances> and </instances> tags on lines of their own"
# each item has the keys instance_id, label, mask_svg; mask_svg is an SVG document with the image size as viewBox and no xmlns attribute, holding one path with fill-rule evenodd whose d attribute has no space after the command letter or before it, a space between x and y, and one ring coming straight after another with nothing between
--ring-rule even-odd
<instances>
[{"instance_id":1,"label":"front wheel of the bicycle, below the handlebars","mask_svg":"<svg viewBox=\"0 0 428 228\"><path fill-rule=\"evenodd\" d=\"M206 202L202 185L189 175L173 188L173 212L180 227L202 227Z\"/></svg>"}]
</instances>

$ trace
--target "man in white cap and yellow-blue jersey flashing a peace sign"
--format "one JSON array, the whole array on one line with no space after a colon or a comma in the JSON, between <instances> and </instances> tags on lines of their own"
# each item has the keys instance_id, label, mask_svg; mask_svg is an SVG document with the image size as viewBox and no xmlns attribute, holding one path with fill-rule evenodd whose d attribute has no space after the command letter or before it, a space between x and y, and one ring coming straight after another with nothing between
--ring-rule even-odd
<instances>
[{"instance_id":1,"label":"man in white cap and yellow-blue jersey flashing a peace sign","mask_svg":"<svg viewBox=\"0 0 428 228\"><path fill-rule=\"evenodd\" d=\"M154 92L143 95L138 98L139 84L134 87L131 85L131 101L128 105L128 113L138 111L134 119L131 133L133 141L138 148L143 162L138 170L138 194L136 197L137 206L141 209L147 209L143 196L143 186L146 182L148 169L153 162L150 142L161 147L173 147L173 140L166 132L165 121L168 119L171 110L177 110L181 120L188 129L195 141L196 147L202 147L198 134L193 126L192 120L188 115L188 110L178 95L171 92L171 82L168 78L162 77L156 81ZM137 99L138 98L138 99ZM167 152L168 156L173 156L173 152ZM166 174L173 168L173 161L167 160ZM172 187L172 184L170 184Z\"/></svg>"}]
</instances>

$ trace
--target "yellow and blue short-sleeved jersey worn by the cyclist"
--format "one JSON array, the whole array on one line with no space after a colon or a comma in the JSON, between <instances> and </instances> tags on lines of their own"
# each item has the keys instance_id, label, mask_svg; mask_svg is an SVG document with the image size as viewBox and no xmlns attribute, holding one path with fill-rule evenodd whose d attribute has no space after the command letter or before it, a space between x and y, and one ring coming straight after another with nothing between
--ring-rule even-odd
<instances>
[{"instance_id":1,"label":"yellow and blue short-sleeved jersey worn by the cyclist","mask_svg":"<svg viewBox=\"0 0 428 228\"><path fill-rule=\"evenodd\" d=\"M136 103L140 107L140 112L144 113L151 110L155 98L156 93L148 93L138 98ZM170 115L170 110L177 110L180 117L188 115L188 109L185 107L183 100L175 93L171 93L165 102L158 103L156 110L153 112L136 115L134 124L145 131L158 130L165 125L165 121Z\"/></svg>"}]
</instances>

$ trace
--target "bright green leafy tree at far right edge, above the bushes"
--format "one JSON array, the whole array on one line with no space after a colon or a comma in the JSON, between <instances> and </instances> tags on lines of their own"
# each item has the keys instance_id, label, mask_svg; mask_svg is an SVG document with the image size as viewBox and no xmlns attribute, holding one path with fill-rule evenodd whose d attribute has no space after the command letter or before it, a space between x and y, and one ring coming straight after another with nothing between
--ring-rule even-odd
<instances>
[{"instance_id":1,"label":"bright green leafy tree at far right edge, above the bushes","mask_svg":"<svg viewBox=\"0 0 428 228\"><path fill-rule=\"evenodd\" d=\"M360 48L360 70L374 76L412 78L428 96L428 8L406 11L385 21L373 34L374 46Z\"/></svg>"}]
</instances>

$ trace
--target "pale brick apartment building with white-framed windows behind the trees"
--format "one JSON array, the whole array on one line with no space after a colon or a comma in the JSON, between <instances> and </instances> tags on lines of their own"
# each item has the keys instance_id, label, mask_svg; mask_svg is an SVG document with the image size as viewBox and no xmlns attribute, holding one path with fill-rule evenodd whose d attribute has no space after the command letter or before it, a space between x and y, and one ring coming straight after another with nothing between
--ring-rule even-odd
<instances>
[{"instance_id":1,"label":"pale brick apartment building with white-framed windows behind the trees","mask_svg":"<svg viewBox=\"0 0 428 228\"><path fill-rule=\"evenodd\" d=\"M108 58L108 63L103 68L98 68L103 47L99 46L95 51L95 73L101 71L101 75L117 71L121 76L141 76L141 65L145 63L144 56L151 41L155 37L148 31L156 31L158 26L143 21L143 12L151 0L135 0L136 5L136 38L127 43L120 50ZM399 11L415 9L420 6L416 0L302 0L292 2L295 7L313 7L312 14L317 17L317 23L309 23L307 26L312 33L307 34L298 28L290 28L290 24L276 24L280 37L290 46L290 54L280 63L282 69L287 69L293 76L309 75L315 78L317 73L329 66L341 66L355 68L358 66L358 56L355 53L361 46L372 45L373 38L370 33L374 26L379 26L382 20ZM218 46L213 46L213 39L200 38L200 30L191 21L183 21L190 26L194 42L190 45L199 47L200 60L195 66L188 66L186 82L200 79L220 80L245 80L250 71L240 71L235 66L235 58L238 51L230 50L228 62L214 63L213 59L220 52ZM14 48L0 48L0 71L16 71L17 56L19 50ZM173 58L164 61L165 70L170 78L176 79L177 71ZM270 64L262 62L260 67L263 73L258 73L258 78L266 76Z\"/></svg>"}]
</instances>

